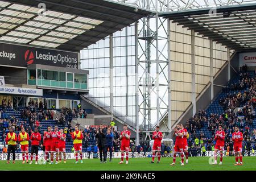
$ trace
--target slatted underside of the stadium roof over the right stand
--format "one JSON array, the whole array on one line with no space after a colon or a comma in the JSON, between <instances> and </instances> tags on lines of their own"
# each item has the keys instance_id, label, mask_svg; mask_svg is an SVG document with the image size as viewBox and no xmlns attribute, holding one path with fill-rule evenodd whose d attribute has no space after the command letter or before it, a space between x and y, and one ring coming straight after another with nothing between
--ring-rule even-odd
<instances>
[{"instance_id":1,"label":"slatted underside of the stadium roof over the right stand","mask_svg":"<svg viewBox=\"0 0 256 182\"><path fill-rule=\"evenodd\" d=\"M256 48L256 3L159 14L236 51Z\"/></svg>"}]
</instances>

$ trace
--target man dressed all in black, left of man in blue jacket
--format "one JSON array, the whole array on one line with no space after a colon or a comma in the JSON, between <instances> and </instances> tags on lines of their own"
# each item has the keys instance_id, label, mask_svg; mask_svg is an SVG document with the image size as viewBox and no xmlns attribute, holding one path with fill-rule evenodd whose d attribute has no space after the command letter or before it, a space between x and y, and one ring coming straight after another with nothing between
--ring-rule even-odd
<instances>
[{"instance_id":1,"label":"man dressed all in black, left of man in blue jacket","mask_svg":"<svg viewBox=\"0 0 256 182\"><path fill-rule=\"evenodd\" d=\"M106 131L103 129L103 125L100 125L100 128L96 133L98 150L100 152L100 160L102 163L102 153L103 153L103 163L106 163Z\"/></svg>"}]
</instances>

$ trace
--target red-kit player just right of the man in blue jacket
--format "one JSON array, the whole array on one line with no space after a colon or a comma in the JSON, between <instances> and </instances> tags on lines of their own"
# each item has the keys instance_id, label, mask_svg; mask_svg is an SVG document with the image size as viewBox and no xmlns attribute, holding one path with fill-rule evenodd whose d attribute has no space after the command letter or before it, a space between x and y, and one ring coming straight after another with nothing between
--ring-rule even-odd
<instances>
[{"instance_id":1,"label":"red-kit player just right of the man in blue jacket","mask_svg":"<svg viewBox=\"0 0 256 182\"><path fill-rule=\"evenodd\" d=\"M129 151L130 151L130 131L127 130L127 125L123 125L123 131L120 134L121 140L121 162L118 164L123 164L124 152L126 152L126 164L128 164Z\"/></svg>"}]
</instances>

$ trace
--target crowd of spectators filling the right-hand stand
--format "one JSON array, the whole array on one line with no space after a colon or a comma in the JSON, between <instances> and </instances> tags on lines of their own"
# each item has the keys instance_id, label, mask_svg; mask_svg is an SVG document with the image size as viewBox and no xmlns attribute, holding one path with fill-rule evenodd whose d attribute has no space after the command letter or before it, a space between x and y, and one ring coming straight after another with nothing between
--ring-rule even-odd
<instances>
[{"instance_id":1,"label":"crowd of spectators filling the right-hand stand","mask_svg":"<svg viewBox=\"0 0 256 182\"><path fill-rule=\"evenodd\" d=\"M241 72L237 84L230 84L224 88L223 92L227 93L226 97L219 100L219 104L224 110L223 114L211 113L207 115L205 110L199 110L194 117L187 121L186 127L190 133L188 145L191 155L200 155L203 146L206 150L213 150L215 144L213 138L218 125L224 126L226 133L225 150L233 151L232 133L234 126L240 127L240 131L243 133L243 154L246 150L255 150L256 130L251 131L250 128L253 127L253 119L255 118L256 78L249 76L248 72ZM203 132L200 135L196 134L196 130L203 127L207 127L211 132L211 138L205 137ZM231 154L232 152L230 152Z\"/></svg>"}]
</instances>

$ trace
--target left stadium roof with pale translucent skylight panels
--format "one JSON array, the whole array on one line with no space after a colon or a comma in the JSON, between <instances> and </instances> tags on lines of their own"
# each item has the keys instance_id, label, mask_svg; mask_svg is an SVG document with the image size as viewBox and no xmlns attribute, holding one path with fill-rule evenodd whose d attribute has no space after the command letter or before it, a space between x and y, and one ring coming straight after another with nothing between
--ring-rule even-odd
<instances>
[{"instance_id":1,"label":"left stadium roof with pale translucent skylight panels","mask_svg":"<svg viewBox=\"0 0 256 182\"><path fill-rule=\"evenodd\" d=\"M151 13L102 0L0 1L0 42L78 52Z\"/></svg>"}]
</instances>

